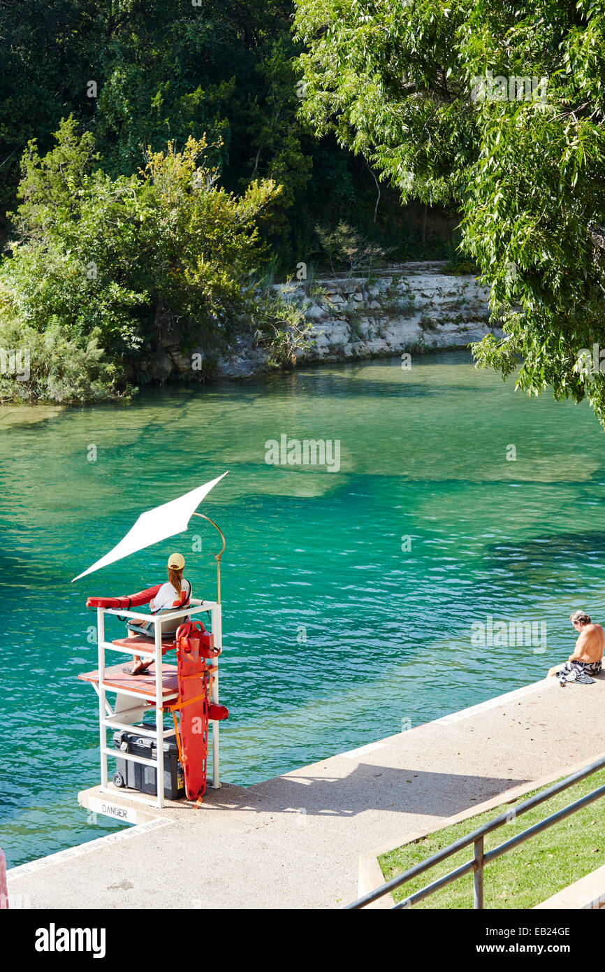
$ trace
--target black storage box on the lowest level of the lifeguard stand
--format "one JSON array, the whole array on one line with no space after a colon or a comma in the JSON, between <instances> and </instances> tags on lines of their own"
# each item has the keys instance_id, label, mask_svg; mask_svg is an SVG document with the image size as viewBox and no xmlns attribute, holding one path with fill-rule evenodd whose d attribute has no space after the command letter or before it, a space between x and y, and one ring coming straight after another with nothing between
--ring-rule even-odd
<instances>
[{"instance_id":1,"label":"black storage box on the lowest level of the lifeguard stand","mask_svg":"<svg viewBox=\"0 0 605 972\"><path fill-rule=\"evenodd\" d=\"M137 732L137 726L132 727L132 732L115 732L114 746L122 752L131 752L133 756L155 759L155 740L150 736L141 736ZM120 759L118 756L114 783L141 793L150 793L151 796L157 795L155 768L144 763L135 763L132 759ZM164 739L164 796L167 800L180 800L185 796L185 777L174 734Z\"/></svg>"}]
</instances>

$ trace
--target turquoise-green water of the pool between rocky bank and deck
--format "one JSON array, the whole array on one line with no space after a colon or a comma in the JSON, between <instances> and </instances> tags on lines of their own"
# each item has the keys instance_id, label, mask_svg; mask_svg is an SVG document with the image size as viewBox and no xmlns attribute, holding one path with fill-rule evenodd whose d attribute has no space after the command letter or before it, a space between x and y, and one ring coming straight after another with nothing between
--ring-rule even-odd
<instances>
[{"instance_id":1,"label":"turquoise-green water of the pool between rocky bank and deck","mask_svg":"<svg viewBox=\"0 0 605 972\"><path fill-rule=\"evenodd\" d=\"M282 434L339 439L340 471L267 465ZM77 680L96 667L85 598L161 581L175 548L194 593L213 597L217 535L195 525L71 577L143 509L224 469L202 507L227 538L223 780L267 779L519 687L569 653L571 609L603 619L604 434L588 406L530 401L464 352L128 406L0 409L0 846L13 866L116 829L77 805L98 781L96 695ZM546 624L548 650L473 643L487 615Z\"/></svg>"}]
</instances>

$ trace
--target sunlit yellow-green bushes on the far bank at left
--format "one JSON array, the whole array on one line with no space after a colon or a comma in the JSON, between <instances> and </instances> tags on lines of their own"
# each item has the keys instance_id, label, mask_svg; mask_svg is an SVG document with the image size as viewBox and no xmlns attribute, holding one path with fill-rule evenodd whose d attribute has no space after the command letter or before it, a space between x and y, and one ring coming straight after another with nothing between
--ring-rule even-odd
<instances>
[{"instance_id":1,"label":"sunlit yellow-green bushes on the far bank at left","mask_svg":"<svg viewBox=\"0 0 605 972\"><path fill-rule=\"evenodd\" d=\"M253 291L258 225L280 196L272 180L227 192L213 147L192 136L182 152L171 142L138 174L112 178L76 121L56 136L46 156L33 141L23 156L17 241L0 269L0 343L29 348L30 374L5 376L0 391L85 400L175 366L203 377L245 329L284 347L293 310Z\"/></svg>"}]
</instances>

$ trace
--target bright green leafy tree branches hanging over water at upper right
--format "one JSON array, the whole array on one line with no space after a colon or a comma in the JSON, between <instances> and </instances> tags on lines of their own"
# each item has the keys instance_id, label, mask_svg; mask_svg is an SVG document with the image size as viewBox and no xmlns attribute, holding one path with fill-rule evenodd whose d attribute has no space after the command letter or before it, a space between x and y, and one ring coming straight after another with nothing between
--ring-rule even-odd
<instances>
[{"instance_id":1,"label":"bright green leafy tree branches hanging over water at upper right","mask_svg":"<svg viewBox=\"0 0 605 972\"><path fill-rule=\"evenodd\" d=\"M506 375L521 358L521 388L588 397L605 423L603 0L296 8L305 119L404 198L461 208L508 333L478 362Z\"/></svg>"}]
</instances>

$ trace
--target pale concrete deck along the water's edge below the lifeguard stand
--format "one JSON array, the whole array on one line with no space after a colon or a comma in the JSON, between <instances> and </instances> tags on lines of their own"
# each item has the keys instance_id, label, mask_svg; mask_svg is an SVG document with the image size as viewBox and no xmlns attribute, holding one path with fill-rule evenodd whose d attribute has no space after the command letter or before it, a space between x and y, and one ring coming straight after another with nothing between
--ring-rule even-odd
<instances>
[{"instance_id":1,"label":"pale concrete deck along the water's edge below the lifeguard stand","mask_svg":"<svg viewBox=\"0 0 605 972\"><path fill-rule=\"evenodd\" d=\"M14 868L9 893L50 909L338 908L357 896L360 858L605 753L604 704L605 677L551 678L273 780L209 789L199 808L85 790L84 807L109 799L140 822Z\"/></svg>"}]
</instances>

